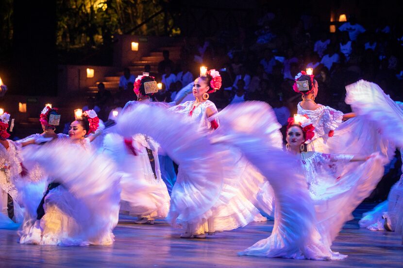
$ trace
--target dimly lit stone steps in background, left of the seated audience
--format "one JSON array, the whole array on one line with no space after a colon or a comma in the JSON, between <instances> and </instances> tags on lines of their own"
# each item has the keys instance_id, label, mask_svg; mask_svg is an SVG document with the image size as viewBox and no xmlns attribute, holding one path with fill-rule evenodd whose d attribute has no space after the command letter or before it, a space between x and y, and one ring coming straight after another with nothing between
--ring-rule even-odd
<instances>
[{"instance_id":1,"label":"dimly lit stone steps in background, left of the seated audience","mask_svg":"<svg viewBox=\"0 0 403 268\"><path fill-rule=\"evenodd\" d=\"M156 51L152 51L150 55L143 56L139 61L134 61L128 68L131 74L135 77L141 75L144 71L144 65L149 64L151 66L151 73L158 72L158 63L164 58L162 56L163 50L169 51L169 59L173 62L177 62L180 57L182 42L171 44L169 47L160 47ZM105 76L102 81L97 81L94 86L88 87L86 92L87 96L94 96L98 92L97 85L102 82L105 85L105 89L109 90L112 94L118 92L119 79L123 75L123 71L116 72L110 76Z\"/></svg>"}]
</instances>

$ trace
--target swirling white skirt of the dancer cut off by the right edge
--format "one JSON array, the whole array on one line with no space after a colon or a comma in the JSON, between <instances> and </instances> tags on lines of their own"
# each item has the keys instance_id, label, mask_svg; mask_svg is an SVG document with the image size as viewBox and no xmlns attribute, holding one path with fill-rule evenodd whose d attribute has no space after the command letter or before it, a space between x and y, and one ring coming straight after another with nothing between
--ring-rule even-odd
<instances>
[{"instance_id":1,"label":"swirling white skirt of the dancer cut off by the right edge","mask_svg":"<svg viewBox=\"0 0 403 268\"><path fill-rule=\"evenodd\" d=\"M346 103L368 122L374 122L378 131L392 143L392 147L400 148L403 157L403 142L400 138L403 133L403 103L393 101L377 84L365 80L348 85L346 90ZM372 231L402 232L402 180L403 177L392 186L387 201L364 213L359 222L361 227L367 227Z\"/></svg>"}]
</instances>

